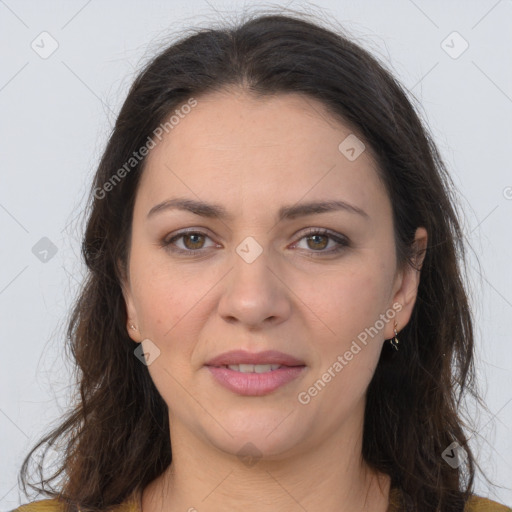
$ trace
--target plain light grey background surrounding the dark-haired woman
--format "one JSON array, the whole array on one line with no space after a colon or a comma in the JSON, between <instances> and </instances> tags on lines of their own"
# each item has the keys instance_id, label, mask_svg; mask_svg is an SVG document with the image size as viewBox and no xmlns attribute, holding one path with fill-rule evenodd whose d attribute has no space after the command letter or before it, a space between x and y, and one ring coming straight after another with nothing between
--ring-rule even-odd
<instances>
[{"instance_id":1,"label":"plain light grey background surrounding the dark-haired woman","mask_svg":"<svg viewBox=\"0 0 512 512\"><path fill-rule=\"evenodd\" d=\"M478 413L472 446L490 479L508 486L479 479L477 491L512 505L512 2L316 5L413 91L459 188L464 232L481 262L470 253L476 364L490 410ZM0 0L0 510L26 502L19 466L73 391L62 346L83 271L75 216L127 88L175 31L243 8L217 0ZM43 31L59 45L46 59L31 48L34 40L43 46ZM453 31L469 43L458 58L441 46ZM453 37L452 54L463 44ZM42 237L57 248L46 262L32 252Z\"/></svg>"}]
</instances>

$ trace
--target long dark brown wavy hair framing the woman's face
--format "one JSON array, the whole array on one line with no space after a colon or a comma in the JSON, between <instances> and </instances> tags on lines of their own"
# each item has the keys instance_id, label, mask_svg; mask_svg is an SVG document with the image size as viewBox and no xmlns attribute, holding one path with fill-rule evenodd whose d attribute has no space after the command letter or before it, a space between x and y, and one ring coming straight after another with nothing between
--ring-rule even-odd
<instances>
[{"instance_id":1,"label":"long dark brown wavy hair framing the woman's face","mask_svg":"<svg viewBox=\"0 0 512 512\"><path fill-rule=\"evenodd\" d=\"M121 290L146 158L108 193L98 190L106 190L177 107L232 86L257 97L298 93L316 99L364 141L391 199L402 268L414 264L416 228L426 228L417 300L401 331L400 350L384 344L367 390L362 455L391 477L404 510L461 512L476 462L460 405L468 393L481 400L454 185L413 98L392 73L342 29L293 11L191 29L134 80L89 196L82 242L87 276L67 328L79 393L63 421L25 458L25 494L29 461L44 445L40 482L28 485L64 500L67 510L93 512L121 503L171 463L167 405L134 356ZM454 441L468 455L458 468L442 458ZM42 461L57 446L62 459L45 478ZM52 485L57 479L59 489Z\"/></svg>"}]
</instances>

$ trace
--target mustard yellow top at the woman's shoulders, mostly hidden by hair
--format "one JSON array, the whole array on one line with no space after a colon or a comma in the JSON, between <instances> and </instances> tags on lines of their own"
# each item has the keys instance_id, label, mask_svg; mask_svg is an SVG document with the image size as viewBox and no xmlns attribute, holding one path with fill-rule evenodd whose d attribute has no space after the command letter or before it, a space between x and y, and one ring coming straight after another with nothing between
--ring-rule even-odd
<instances>
[{"instance_id":1,"label":"mustard yellow top at the woman's shoulders, mostly hidden by hair","mask_svg":"<svg viewBox=\"0 0 512 512\"><path fill-rule=\"evenodd\" d=\"M134 491L123 503L110 509L110 512L142 512L142 494ZM64 504L57 499L33 501L21 505L11 512L62 512ZM391 489L387 512L400 512L400 491ZM512 508L500 505L495 501L473 495L466 503L464 512L512 512Z\"/></svg>"}]
</instances>

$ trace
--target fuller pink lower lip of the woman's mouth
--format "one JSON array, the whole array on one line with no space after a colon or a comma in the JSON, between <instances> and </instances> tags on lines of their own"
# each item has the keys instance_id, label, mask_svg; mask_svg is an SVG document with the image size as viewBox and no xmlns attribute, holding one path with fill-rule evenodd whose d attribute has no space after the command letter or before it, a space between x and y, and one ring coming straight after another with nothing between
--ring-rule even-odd
<instances>
[{"instance_id":1,"label":"fuller pink lower lip of the woman's mouth","mask_svg":"<svg viewBox=\"0 0 512 512\"><path fill-rule=\"evenodd\" d=\"M207 366L222 386L245 396L262 396L296 379L305 366L285 366L265 373L242 373L229 368Z\"/></svg>"}]
</instances>

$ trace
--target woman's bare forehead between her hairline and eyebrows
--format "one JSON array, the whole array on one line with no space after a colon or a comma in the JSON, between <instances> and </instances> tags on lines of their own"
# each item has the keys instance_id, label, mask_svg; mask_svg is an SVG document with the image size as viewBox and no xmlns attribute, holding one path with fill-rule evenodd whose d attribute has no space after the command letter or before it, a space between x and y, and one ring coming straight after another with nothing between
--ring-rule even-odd
<instances>
[{"instance_id":1,"label":"woman's bare forehead between her hairline and eyebrows","mask_svg":"<svg viewBox=\"0 0 512 512\"><path fill-rule=\"evenodd\" d=\"M387 200L369 148L347 158L340 144L354 134L319 101L238 89L196 101L147 157L140 184L147 201L214 195L248 205L341 194L371 210Z\"/></svg>"}]
</instances>

